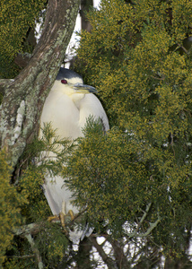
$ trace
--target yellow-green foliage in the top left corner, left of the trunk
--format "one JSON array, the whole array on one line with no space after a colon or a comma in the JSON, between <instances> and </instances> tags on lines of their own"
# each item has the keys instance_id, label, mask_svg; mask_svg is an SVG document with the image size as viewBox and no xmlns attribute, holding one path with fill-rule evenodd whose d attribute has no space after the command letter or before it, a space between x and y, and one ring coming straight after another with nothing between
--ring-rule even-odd
<instances>
[{"instance_id":1,"label":"yellow-green foliage in the top left corner, left of the trunk","mask_svg":"<svg viewBox=\"0 0 192 269\"><path fill-rule=\"evenodd\" d=\"M35 18L46 0L2 0L0 3L0 77L13 78L18 67L13 58L22 52L27 31L34 26ZM25 48L31 53L33 48Z\"/></svg>"}]
</instances>

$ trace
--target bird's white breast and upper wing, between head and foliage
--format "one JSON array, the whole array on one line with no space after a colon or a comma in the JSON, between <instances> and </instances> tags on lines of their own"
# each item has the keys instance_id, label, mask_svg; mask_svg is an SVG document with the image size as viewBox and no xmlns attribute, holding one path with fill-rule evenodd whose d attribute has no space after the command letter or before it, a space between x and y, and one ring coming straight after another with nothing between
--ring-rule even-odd
<instances>
[{"instance_id":1,"label":"bird's white breast and upper wing, between head and foliage","mask_svg":"<svg viewBox=\"0 0 192 269\"><path fill-rule=\"evenodd\" d=\"M56 82L48 94L40 117L40 126L50 123L60 138L75 139L83 136L82 129L88 117L100 118L105 130L109 122L100 100L92 94L65 94L65 87Z\"/></svg>"}]
</instances>

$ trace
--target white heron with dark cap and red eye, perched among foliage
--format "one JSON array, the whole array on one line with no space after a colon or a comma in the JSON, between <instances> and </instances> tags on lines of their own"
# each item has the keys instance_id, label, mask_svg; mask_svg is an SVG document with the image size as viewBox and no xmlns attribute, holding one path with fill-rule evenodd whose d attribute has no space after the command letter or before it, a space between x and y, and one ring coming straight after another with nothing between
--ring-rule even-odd
<instances>
[{"instance_id":1,"label":"white heron with dark cap and red eye, perched among foliage","mask_svg":"<svg viewBox=\"0 0 192 269\"><path fill-rule=\"evenodd\" d=\"M97 90L83 83L80 74L73 70L60 67L56 81L48 93L40 116L40 130L45 124L51 124L61 139L74 141L78 137L83 137L83 128L88 117L100 119L103 130L109 130L109 120L100 100L93 94ZM42 137L42 131L39 133ZM51 158L51 157L50 157ZM65 186L65 178L61 176L44 176L44 194L53 215L60 213L79 213L79 209L74 204L73 193ZM92 229L70 230L69 239L77 243L83 239L85 234L89 236Z\"/></svg>"}]
</instances>

